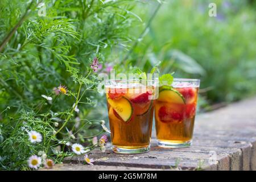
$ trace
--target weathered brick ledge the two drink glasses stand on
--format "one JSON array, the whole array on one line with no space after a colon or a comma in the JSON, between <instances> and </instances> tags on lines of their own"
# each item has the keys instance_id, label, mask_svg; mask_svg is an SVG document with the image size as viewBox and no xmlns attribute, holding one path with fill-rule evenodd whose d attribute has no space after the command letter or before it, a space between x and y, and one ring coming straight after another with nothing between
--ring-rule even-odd
<instances>
[{"instance_id":1,"label":"weathered brick ledge the two drink glasses stand on","mask_svg":"<svg viewBox=\"0 0 256 182\"><path fill-rule=\"evenodd\" d=\"M114 154L111 149L89 154L94 167L82 163L83 156L66 158L56 170L204 169L256 170L256 98L237 102L196 118L193 145L165 149L156 146L145 154ZM212 160L216 154L217 162ZM72 163L72 164L71 164Z\"/></svg>"}]
</instances>

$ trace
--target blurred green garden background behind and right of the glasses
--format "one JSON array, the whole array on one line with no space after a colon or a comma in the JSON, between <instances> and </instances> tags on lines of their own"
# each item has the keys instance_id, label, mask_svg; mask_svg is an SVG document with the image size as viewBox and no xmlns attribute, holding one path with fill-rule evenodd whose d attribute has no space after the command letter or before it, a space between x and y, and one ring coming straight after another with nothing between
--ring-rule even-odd
<instances>
[{"instance_id":1,"label":"blurred green garden background behind and right of the glasses","mask_svg":"<svg viewBox=\"0 0 256 182\"><path fill-rule=\"evenodd\" d=\"M138 40L129 57L148 71L162 60L160 73L201 79L200 104L225 104L256 93L255 1L155 1L135 7L144 23L131 28ZM217 16L209 16L209 3Z\"/></svg>"}]
</instances>

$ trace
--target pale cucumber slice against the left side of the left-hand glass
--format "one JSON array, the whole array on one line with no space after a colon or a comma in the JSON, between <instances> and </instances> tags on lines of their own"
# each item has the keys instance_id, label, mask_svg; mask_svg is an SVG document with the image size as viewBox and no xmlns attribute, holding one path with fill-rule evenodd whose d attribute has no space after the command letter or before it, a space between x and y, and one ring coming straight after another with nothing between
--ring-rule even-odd
<instances>
[{"instance_id":1,"label":"pale cucumber slice against the left side of the left-hand glass","mask_svg":"<svg viewBox=\"0 0 256 182\"><path fill-rule=\"evenodd\" d=\"M122 97L119 100L112 100L108 98L109 105L117 112L117 114L127 122L133 115L133 107L127 98Z\"/></svg>"}]
</instances>

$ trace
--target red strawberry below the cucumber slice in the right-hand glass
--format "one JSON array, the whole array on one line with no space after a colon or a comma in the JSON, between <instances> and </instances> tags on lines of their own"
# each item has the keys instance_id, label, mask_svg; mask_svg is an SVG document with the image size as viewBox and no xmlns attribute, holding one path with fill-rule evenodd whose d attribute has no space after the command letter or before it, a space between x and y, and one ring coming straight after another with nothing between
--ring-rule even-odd
<instances>
[{"instance_id":1,"label":"red strawberry below the cucumber slice in the right-hand glass","mask_svg":"<svg viewBox=\"0 0 256 182\"><path fill-rule=\"evenodd\" d=\"M160 107L158 111L158 117L164 123L170 123L173 121L182 121L183 117L181 113L175 110L169 109L166 106Z\"/></svg>"}]
</instances>

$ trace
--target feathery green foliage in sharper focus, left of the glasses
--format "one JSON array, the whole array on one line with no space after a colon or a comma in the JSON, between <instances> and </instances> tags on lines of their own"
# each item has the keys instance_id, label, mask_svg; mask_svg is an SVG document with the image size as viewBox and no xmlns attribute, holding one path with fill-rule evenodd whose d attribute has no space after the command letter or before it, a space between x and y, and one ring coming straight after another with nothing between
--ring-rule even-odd
<instances>
[{"instance_id":1,"label":"feathery green foliage in sharper focus, left of the glasses","mask_svg":"<svg viewBox=\"0 0 256 182\"><path fill-rule=\"evenodd\" d=\"M42 1L30 2L0 2L1 169L28 169L28 157L39 151L61 162L73 155L63 140L95 147L92 137L104 132L103 117L89 115L100 106L97 73L126 52L138 21L135 1L46 0L46 16L38 15ZM60 84L67 94L55 94ZM42 143L30 143L30 130L43 135Z\"/></svg>"}]
</instances>

